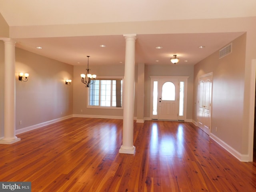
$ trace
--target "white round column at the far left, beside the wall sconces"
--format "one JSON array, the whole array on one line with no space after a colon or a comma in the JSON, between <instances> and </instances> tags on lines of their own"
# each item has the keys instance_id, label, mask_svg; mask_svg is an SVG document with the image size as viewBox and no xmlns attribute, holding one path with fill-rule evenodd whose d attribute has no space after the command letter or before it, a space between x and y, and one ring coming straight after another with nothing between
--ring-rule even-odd
<instances>
[{"instance_id":1,"label":"white round column at the far left, beside the wall sconces","mask_svg":"<svg viewBox=\"0 0 256 192\"><path fill-rule=\"evenodd\" d=\"M0 144L12 144L20 140L15 136L15 42L4 41L4 138Z\"/></svg>"}]
</instances>

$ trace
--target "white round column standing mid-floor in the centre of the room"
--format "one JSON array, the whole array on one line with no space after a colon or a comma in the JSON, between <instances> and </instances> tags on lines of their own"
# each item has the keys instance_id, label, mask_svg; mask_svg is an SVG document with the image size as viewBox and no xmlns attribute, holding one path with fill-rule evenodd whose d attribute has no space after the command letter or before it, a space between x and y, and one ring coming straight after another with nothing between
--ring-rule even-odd
<instances>
[{"instance_id":1,"label":"white round column standing mid-floor in the centre of the room","mask_svg":"<svg viewBox=\"0 0 256 192\"><path fill-rule=\"evenodd\" d=\"M124 66L124 120L123 142L119 153L134 154L133 118L134 118L134 81L135 81L135 40L136 34L124 34L125 66Z\"/></svg>"}]
</instances>

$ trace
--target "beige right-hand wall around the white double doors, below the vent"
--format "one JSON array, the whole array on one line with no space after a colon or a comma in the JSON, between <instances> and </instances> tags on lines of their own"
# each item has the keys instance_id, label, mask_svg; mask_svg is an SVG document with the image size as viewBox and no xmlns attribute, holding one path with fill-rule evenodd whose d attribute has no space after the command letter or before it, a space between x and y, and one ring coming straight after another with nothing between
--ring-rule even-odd
<instances>
[{"instance_id":1,"label":"beige right-hand wall around the white double doors, below the vent","mask_svg":"<svg viewBox=\"0 0 256 192\"><path fill-rule=\"evenodd\" d=\"M219 59L219 52L194 66L194 110L197 118L198 77L213 73L211 133L240 153L244 118L244 70L246 34L232 41L232 53ZM216 127L218 128L216 132Z\"/></svg>"}]
</instances>

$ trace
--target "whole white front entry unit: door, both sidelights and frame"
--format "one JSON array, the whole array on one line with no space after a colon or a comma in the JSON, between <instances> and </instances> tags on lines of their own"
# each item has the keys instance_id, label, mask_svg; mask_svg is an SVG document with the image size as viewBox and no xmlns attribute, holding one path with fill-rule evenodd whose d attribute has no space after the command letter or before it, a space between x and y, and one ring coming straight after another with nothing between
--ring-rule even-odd
<instances>
[{"instance_id":1,"label":"whole white front entry unit: door, both sidelights and frame","mask_svg":"<svg viewBox=\"0 0 256 192\"><path fill-rule=\"evenodd\" d=\"M150 118L184 121L188 76L150 76L150 78Z\"/></svg>"}]
</instances>

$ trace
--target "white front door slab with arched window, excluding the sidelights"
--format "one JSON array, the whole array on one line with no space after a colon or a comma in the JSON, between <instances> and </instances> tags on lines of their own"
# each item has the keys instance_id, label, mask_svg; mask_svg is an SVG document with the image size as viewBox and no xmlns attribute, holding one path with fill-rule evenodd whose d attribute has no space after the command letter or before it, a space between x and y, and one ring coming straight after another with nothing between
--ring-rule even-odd
<instances>
[{"instance_id":1,"label":"white front door slab with arched window, excluding the sidelights","mask_svg":"<svg viewBox=\"0 0 256 192\"><path fill-rule=\"evenodd\" d=\"M159 81L159 120L178 120L178 80Z\"/></svg>"}]
</instances>

